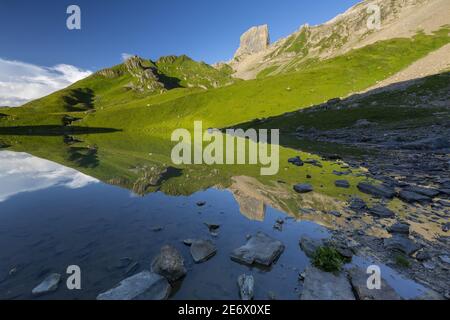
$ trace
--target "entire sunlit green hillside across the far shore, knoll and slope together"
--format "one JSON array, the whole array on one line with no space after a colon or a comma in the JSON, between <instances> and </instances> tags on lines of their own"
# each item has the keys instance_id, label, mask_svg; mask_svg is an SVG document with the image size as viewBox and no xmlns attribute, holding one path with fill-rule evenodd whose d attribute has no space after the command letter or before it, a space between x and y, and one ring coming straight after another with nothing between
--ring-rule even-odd
<instances>
[{"instance_id":1,"label":"entire sunlit green hillside across the far shore, knoll and slope together","mask_svg":"<svg viewBox=\"0 0 450 320\"><path fill-rule=\"evenodd\" d=\"M185 56L155 63L135 61L131 72L122 64L23 108L6 109L2 113L8 117L0 120L0 126L60 125L61 117L70 114L82 118L78 126L138 131L167 139L173 128L191 128L194 120L203 120L205 127L228 127L347 96L390 77L449 41L448 28L431 35L419 33L413 38L380 41L333 59L307 61L301 71L210 90L183 86L203 86L205 79L212 86L216 82L225 85L229 81L226 68L217 70ZM131 88L133 81L137 89ZM157 92L146 90L148 85L154 85ZM169 85L171 89L166 89Z\"/></svg>"}]
</instances>

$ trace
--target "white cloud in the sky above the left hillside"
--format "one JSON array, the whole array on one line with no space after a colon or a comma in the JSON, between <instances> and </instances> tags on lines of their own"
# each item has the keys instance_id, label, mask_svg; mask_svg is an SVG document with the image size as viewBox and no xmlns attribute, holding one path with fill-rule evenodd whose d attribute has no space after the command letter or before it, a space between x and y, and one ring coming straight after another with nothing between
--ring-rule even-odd
<instances>
[{"instance_id":1,"label":"white cloud in the sky above the left hillside","mask_svg":"<svg viewBox=\"0 0 450 320\"><path fill-rule=\"evenodd\" d=\"M0 58L0 106L18 106L81 80L92 72L59 64L42 67Z\"/></svg>"}]
</instances>

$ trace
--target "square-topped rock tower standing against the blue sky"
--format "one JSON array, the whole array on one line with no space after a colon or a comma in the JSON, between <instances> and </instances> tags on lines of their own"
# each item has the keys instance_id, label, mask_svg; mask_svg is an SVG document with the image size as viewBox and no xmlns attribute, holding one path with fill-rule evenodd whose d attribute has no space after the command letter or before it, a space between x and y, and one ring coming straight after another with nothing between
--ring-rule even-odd
<instances>
[{"instance_id":1,"label":"square-topped rock tower standing against the blue sky","mask_svg":"<svg viewBox=\"0 0 450 320\"><path fill-rule=\"evenodd\" d=\"M269 27L267 24L252 27L241 36L239 49L234 59L266 50L270 45Z\"/></svg>"}]
</instances>

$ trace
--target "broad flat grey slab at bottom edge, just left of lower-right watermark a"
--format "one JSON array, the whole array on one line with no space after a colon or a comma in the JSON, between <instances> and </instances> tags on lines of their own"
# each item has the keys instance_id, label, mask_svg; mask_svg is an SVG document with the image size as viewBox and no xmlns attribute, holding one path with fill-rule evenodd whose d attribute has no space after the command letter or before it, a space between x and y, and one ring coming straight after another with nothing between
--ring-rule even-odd
<instances>
[{"instance_id":1,"label":"broad flat grey slab at bottom edge, just left of lower-right watermark a","mask_svg":"<svg viewBox=\"0 0 450 320\"><path fill-rule=\"evenodd\" d=\"M334 274L309 267L301 300L355 300L352 286L343 272Z\"/></svg>"}]
</instances>

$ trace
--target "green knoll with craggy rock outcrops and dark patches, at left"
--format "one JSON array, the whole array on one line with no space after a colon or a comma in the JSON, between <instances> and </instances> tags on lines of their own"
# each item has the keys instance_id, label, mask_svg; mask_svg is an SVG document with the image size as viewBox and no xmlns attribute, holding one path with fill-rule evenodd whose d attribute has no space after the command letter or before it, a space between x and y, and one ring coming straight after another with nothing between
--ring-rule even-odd
<instances>
[{"instance_id":1,"label":"green knoll with craggy rock outcrops and dark patches, at left","mask_svg":"<svg viewBox=\"0 0 450 320\"><path fill-rule=\"evenodd\" d=\"M101 70L66 89L25 104L22 109L90 113L144 98L151 101L161 94L165 95L159 101L164 101L172 95L177 97L233 82L228 72L187 56L162 57L157 62L132 57L123 64ZM172 93L172 90L177 92Z\"/></svg>"}]
</instances>

